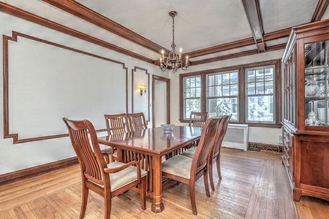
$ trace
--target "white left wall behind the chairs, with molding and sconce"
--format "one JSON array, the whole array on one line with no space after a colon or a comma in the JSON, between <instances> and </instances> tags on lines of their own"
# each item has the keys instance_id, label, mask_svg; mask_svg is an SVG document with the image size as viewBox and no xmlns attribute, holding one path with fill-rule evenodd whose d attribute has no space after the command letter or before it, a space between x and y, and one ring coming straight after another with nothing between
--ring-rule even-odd
<instances>
[{"instance_id":1,"label":"white left wall behind the chairs, with molding and sconce","mask_svg":"<svg viewBox=\"0 0 329 219\"><path fill-rule=\"evenodd\" d=\"M9 23L2 22L8 17ZM132 85L135 66L147 69L150 81L152 75L169 78L168 72L162 72L153 64L0 12L1 38L3 34L12 36L12 31L124 63L128 73L129 113L133 99L134 112L145 113L149 111L147 100L152 98L152 87L148 87L142 97L137 90L137 84L148 83L145 71L134 72ZM0 49L3 51L3 44ZM21 37L17 42L9 41L8 50L9 134L18 133L19 139L65 134L67 129L62 117L90 119L96 129L105 129L103 114L125 112L122 65ZM3 60L2 52L0 59ZM0 115L4 115L3 62L0 69ZM75 93L75 89L80 89L81 95ZM151 115L149 127L152 127ZM0 175L76 156L68 137L13 144L13 138L4 138L3 116L0 124Z\"/></svg>"}]
</instances>

